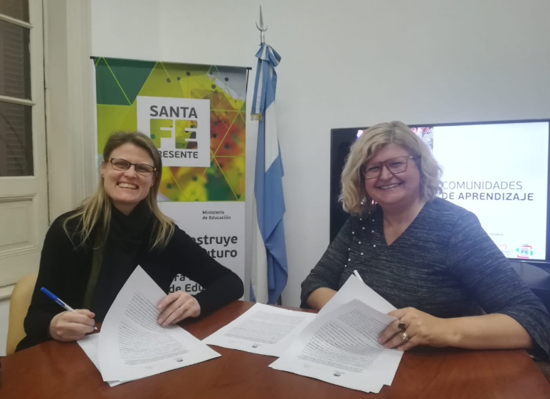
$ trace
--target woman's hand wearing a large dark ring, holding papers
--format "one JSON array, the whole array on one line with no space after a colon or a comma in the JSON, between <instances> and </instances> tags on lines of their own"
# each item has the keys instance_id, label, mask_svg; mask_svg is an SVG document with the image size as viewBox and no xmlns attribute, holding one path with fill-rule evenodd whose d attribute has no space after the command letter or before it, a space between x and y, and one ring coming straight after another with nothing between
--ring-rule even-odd
<instances>
[{"instance_id":1,"label":"woman's hand wearing a large dark ring, holding papers","mask_svg":"<svg viewBox=\"0 0 550 399\"><path fill-rule=\"evenodd\" d=\"M413 307L396 309L388 313L396 317L379 336L379 343L384 348L395 348L407 351L417 345L450 346L454 333L447 319L440 319L421 312ZM404 323L405 329L399 329Z\"/></svg>"}]
</instances>

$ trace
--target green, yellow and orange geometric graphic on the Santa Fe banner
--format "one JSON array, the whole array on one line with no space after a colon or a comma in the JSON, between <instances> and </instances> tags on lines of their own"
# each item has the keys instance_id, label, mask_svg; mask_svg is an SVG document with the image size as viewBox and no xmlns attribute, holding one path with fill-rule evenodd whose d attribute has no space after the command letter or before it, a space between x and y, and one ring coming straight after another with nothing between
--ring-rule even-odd
<instances>
[{"instance_id":1,"label":"green, yellow and orange geometric graphic on the Santa Fe banner","mask_svg":"<svg viewBox=\"0 0 550 399\"><path fill-rule=\"evenodd\" d=\"M137 97L208 100L210 166L164 166L159 201L244 201L246 73L236 67L97 58L98 152L112 132L137 130ZM202 128L204 120L151 117L149 136L160 149L161 139L173 131L176 149L196 150L194 129L201 122Z\"/></svg>"}]
</instances>

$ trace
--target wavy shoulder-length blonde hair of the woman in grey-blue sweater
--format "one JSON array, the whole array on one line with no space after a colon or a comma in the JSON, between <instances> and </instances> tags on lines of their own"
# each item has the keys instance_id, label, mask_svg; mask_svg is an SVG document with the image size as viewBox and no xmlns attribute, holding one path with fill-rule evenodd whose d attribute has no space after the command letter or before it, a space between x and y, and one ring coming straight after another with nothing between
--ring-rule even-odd
<instances>
[{"instance_id":1,"label":"wavy shoulder-length blonde hair of the woman in grey-blue sweater","mask_svg":"<svg viewBox=\"0 0 550 399\"><path fill-rule=\"evenodd\" d=\"M351 146L342 171L342 194L339 198L344 211L361 215L371 210L372 198L366 193L361 166L376 151L390 143L403 147L415 157L421 176L420 195L425 201L431 201L443 192L441 167L428 146L403 122L380 123L366 129Z\"/></svg>"}]
</instances>

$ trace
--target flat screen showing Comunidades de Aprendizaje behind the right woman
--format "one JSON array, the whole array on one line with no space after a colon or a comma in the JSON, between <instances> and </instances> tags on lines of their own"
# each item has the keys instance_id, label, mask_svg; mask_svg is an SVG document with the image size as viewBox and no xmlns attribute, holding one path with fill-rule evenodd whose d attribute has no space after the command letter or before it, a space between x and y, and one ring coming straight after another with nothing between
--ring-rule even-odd
<instances>
[{"instance_id":1,"label":"flat screen showing Comunidades de Aprendizaje behind the right woman","mask_svg":"<svg viewBox=\"0 0 550 399\"><path fill-rule=\"evenodd\" d=\"M510 260L549 262L550 120L409 125L443 169L442 198L475 213ZM366 127L332 129L330 240L349 147Z\"/></svg>"}]
</instances>

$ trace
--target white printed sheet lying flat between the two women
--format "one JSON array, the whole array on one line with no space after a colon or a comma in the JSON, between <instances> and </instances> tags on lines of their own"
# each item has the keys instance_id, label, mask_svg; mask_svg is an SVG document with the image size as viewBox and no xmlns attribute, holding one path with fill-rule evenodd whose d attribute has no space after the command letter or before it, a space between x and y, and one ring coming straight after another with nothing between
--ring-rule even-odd
<instances>
[{"instance_id":1,"label":"white printed sheet lying flat between the two women","mask_svg":"<svg viewBox=\"0 0 550 399\"><path fill-rule=\"evenodd\" d=\"M255 304L203 339L203 343L259 355L280 356L315 316L314 313Z\"/></svg>"}]
</instances>

